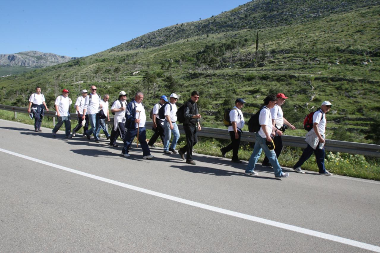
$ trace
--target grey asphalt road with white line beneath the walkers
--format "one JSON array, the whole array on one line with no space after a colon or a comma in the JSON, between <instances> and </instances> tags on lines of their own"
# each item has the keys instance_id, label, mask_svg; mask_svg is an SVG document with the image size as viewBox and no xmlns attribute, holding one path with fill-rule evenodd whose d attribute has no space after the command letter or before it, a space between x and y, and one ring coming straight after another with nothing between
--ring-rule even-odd
<instances>
[{"instance_id":1,"label":"grey asphalt road with white line beneath the walkers","mask_svg":"<svg viewBox=\"0 0 380 253\"><path fill-rule=\"evenodd\" d=\"M0 120L0 252L380 252L379 182L120 151Z\"/></svg>"}]
</instances>

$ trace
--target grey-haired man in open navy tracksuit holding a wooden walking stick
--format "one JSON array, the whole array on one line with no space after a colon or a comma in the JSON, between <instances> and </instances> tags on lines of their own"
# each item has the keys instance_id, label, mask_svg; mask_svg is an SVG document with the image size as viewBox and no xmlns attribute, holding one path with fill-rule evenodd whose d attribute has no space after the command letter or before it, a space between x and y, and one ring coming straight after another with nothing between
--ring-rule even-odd
<instances>
[{"instance_id":1,"label":"grey-haired man in open navy tracksuit holding a wooden walking stick","mask_svg":"<svg viewBox=\"0 0 380 253\"><path fill-rule=\"evenodd\" d=\"M130 157L129 147L132 144L133 139L138 135L138 141L142 148L142 159L152 159L154 156L150 154L148 144L146 143L146 115L145 109L142 105L142 99L144 94L141 91L136 92L135 99L133 99L127 105L126 124L128 131L124 138L124 147L121 155L123 157Z\"/></svg>"}]
</instances>

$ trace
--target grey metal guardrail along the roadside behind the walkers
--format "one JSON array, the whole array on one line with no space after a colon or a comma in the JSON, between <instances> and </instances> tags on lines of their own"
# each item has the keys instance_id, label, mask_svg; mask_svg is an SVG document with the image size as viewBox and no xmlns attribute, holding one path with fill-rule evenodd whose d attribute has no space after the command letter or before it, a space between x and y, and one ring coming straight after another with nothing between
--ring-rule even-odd
<instances>
[{"instance_id":1,"label":"grey metal guardrail along the roadside behind the walkers","mask_svg":"<svg viewBox=\"0 0 380 253\"><path fill-rule=\"evenodd\" d=\"M12 111L15 113L15 118L17 118L17 112L28 113L28 109L25 107L14 107L9 105L0 105L0 110ZM53 117L55 119L55 111L45 112L45 116ZM76 120L76 113L70 114L72 120ZM111 119L113 122L113 118ZM53 124L54 121L53 121ZM150 121L146 122L146 127L151 128L153 123ZM184 134L183 126L178 125L181 134ZM216 139L226 139L230 140L230 134L227 129L202 127L201 131L198 131L198 136L216 138ZM244 131L241 136L241 141L255 142L255 133L250 133ZM283 146L305 148L306 142L304 137L282 135ZM336 140L326 140L325 149L327 151L342 152L348 154L360 154L365 156L380 157L380 145L358 143L358 142L348 142L348 141L336 141Z\"/></svg>"}]
</instances>

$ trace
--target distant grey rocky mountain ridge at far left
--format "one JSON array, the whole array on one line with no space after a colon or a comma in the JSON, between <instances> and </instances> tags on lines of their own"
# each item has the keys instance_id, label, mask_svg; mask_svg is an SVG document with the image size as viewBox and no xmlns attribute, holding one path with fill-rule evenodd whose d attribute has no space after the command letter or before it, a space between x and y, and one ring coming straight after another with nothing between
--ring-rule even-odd
<instances>
[{"instance_id":1,"label":"distant grey rocky mountain ridge at far left","mask_svg":"<svg viewBox=\"0 0 380 253\"><path fill-rule=\"evenodd\" d=\"M13 54L0 54L0 67L23 66L28 68L45 68L79 57L68 57L54 53L42 53L38 51L26 51Z\"/></svg>"}]
</instances>

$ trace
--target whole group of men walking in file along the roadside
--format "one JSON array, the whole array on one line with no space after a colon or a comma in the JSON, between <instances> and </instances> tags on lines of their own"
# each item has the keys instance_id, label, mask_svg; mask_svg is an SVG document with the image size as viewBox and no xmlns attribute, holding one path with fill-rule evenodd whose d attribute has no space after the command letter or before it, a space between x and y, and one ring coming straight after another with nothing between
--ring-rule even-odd
<instances>
[{"instance_id":1,"label":"whole group of men walking in file along the roadside","mask_svg":"<svg viewBox=\"0 0 380 253\"><path fill-rule=\"evenodd\" d=\"M114 125L111 134L108 133L105 121L110 121L109 117L109 94L105 94L103 99L97 94L96 86L91 86L90 93L87 90L82 90L81 96L76 99L75 109L78 117L78 125L71 132L70 121L70 105L71 99L68 97L69 91L63 89L62 95L55 99L54 107L58 118L58 123L52 129L52 135L55 137L57 131L62 124L65 124L65 134L67 138L76 136L76 133L83 127L83 137L91 139L93 135L95 142L100 142L100 130L103 130L109 145L117 147L116 140L120 137L123 140L123 149L121 156L130 157L129 154L132 141L137 137L137 143L142 148L143 159L153 159L154 156L150 153L149 147L154 147L154 143L158 137L163 143L163 153L179 154L182 160L186 163L195 165L193 160L193 146L198 142L197 131L201 130L199 119L201 115L198 112L197 103L199 100L198 91L191 93L190 99L177 108L176 102L178 96L172 93L168 97L162 95L160 101L154 105L150 118L153 121L152 130L154 134L149 142L146 141L146 111L142 101L144 94L137 92L135 97L127 102L127 94L125 91L120 91L119 97L111 105L111 113L114 114ZM287 178L289 173L283 173L277 158L282 150L281 135L288 127L295 129L284 117L281 105L287 99L283 93L277 95L269 95L264 99L264 106L258 112L258 124L260 129L256 132L256 141L250 156L245 175L258 175L255 171L255 165L260 158L261 151L264 151L265 158L263 166L272 166L275 178ZM228 131L231 137L230 145L221 148L222 156L232 150L232 162L241 163L238 158L242 129L245 121L242 113L242 108L245 104L244 99L237 98L235 106L229 112ZM306 135L307 147L304 149L302 156L294 165L294 171L304 173L302 164L309 159L312 153L315 153L316 162L319 168L319 174L331 176L331 173L325 168L325 129L326 129L326 113L331 108L331 103L324 101L321 108L318 109L312 116L312 129ZM31 117L35 118L35 131L41 131L41 121L44 115L44 110L48 111L41 88L37 87L36 92L30 96L28 112ZM183 127L186 135L186 145L180 149L176 149L177 141L179 140L179 129L176 124L177 117L183 121ZM181 121L181 122L182 122ZM89 129L89 126L91 127ZM170 144L171 135L173 139ZM186 155L186 157L185 157Z\"/></svg>"}]
</instances>

